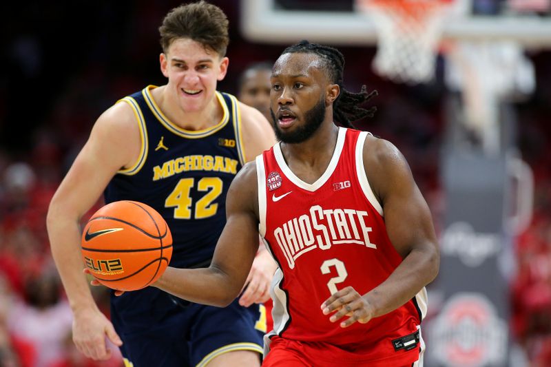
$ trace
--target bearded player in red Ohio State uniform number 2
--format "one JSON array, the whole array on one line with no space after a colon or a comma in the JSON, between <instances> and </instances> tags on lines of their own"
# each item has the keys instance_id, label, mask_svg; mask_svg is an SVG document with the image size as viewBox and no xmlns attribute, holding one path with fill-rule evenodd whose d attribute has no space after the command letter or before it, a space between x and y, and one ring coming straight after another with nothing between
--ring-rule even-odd
<instances>
[{"instance_id":1,"label":"bearded player in red Ohio State uniform number 2","mask_svg":"<svg viewBox=\"0 0 551 367\"><path fill-rule=\"evenodd\" d=\"M424 286L439 269L430 211L396 147L333 123L373 112L357 106L373 94L344 90L343 67L333 48L284 50L271 75L280 143L233 180L211 266L168 268L154 284L224 306L260 231L279 264L264 366L422 365Z\"/></svg>"}]
</instances>

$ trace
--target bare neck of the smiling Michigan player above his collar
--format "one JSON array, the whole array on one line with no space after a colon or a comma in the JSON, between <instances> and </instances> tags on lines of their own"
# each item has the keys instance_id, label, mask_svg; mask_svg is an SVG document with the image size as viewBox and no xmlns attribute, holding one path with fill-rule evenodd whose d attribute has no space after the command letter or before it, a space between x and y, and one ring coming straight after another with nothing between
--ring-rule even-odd
<instances>
[{"instance_id":1,"label":"bare neck of the smiling Michigan player above his collar","mask_svg":"<svg viewBox=\"0 0 551 367\"><path fill-rule=\"evenodd\" d=\"M159 87L158 90L158 93L154 94L157 105L171 123L182 129L190 131L208 129L218 125L222 120L224 110L218 102L216 94L205 108L190 112L185 111L177 101L174 101L169 93L165 92L165 87Z\"/></svg>"}]
</instances>

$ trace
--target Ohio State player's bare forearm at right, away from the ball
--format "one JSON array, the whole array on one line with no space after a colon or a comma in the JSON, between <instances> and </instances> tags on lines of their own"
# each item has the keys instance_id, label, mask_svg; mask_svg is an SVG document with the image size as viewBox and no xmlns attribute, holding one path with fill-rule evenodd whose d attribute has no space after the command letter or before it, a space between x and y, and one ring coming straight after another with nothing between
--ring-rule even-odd
<instances>
[{"instance_id":1,"label":"Ohio State player's bare forearm at right, away from the ball","mask_svg":"<svg viewBox=\"0 0 551 367\"><path fill-rule=\"evenodd\" d=\"M435 249L411 251L382 284L364 295L373 306L373 317L394 311L411 300L435 279L438 269L439 255Z\"/></svg>"}]
</instances>

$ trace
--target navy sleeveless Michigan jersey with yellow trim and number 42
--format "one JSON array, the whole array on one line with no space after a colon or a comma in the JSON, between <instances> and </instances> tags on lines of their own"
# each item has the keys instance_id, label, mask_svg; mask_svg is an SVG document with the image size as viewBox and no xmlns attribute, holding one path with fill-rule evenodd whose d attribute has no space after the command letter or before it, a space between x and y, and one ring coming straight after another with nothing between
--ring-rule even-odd
<instances>
[{"instance_id":1,"label":"navy sleeveless Michigan jersey with yellow trim and number 42","mask_svg":"<svg viewBox=\"0 0 551 367\"><path fill-rule=\"evenodd\" d=\"M238 102L216 92L222 120L187 131L160 111L149 85L123 98L140 127L141 154L121 169L105 189L105 202L135 200L156 209L167 221L174 251L171 266L208 266L226 224L226 194L244 163ZM121 102L119 101L119 102Z\"/></svg>"}]
</instances>

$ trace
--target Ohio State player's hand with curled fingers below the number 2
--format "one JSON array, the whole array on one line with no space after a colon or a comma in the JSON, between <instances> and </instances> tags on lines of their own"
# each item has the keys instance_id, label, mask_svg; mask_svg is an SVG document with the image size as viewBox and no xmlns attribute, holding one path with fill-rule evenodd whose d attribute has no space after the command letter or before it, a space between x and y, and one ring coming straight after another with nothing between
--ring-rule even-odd
<instances>
[{"instance_id":1,"label":"Ohio State player's hand with curled fingers below the number 2","mask_svg":"<svg viewBox=\"0 0 551 367\"><path fill-rule=\"evenodd\" d=\"M324 315L329 315L335 311L337 312L329 317L331 322L336 322L344 316L349 317L340 323L342 328L351 326L355 322L366 324L373 317L373 306L351 286L334 293L322 303Z\"/></svg>"}]
</instances>

